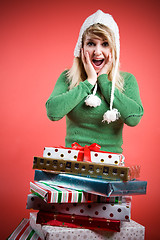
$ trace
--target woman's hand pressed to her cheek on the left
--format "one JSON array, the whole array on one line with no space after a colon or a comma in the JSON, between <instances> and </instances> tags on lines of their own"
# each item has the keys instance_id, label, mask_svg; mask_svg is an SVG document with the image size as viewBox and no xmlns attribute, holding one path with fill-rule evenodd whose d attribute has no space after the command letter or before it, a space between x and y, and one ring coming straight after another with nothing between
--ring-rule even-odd
<instances>
[{"instance_id":1,"label":"woman's hand pressed to her cheek on the left","mask_svg":"<svg viewBox=\"0 0 160 240\"><path fill-rule=\"evenodd\" d=\"M88 52L86 52L86 54L84 55L83 48L81 49L81 59L82 59L86 74L88 76L87 78L88 82L91 83L92 85L95 85L97 82L97 73L90 61Z\"/></svg>"}]
</instances>

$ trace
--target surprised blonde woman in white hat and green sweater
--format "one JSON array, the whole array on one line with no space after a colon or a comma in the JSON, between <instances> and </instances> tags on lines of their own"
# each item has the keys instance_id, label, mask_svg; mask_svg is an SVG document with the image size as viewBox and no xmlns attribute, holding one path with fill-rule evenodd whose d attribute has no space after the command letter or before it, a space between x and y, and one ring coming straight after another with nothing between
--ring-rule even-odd
<instances>
[{"instance_id":1,"label":"surprised blonde woman in white hat and green sweater","mask_svg":"<svg viewBox=\"0 0 160 240\"><path fill-rule=\"evenodd\" d=\"M135 126L143 115L135 77L119 71L119 29L98 10L83 23L71 69L64 71L46 102L47 115L66 116L66 147L73 142L122 153L124 123Z\"/></svg>"}]
</instances>

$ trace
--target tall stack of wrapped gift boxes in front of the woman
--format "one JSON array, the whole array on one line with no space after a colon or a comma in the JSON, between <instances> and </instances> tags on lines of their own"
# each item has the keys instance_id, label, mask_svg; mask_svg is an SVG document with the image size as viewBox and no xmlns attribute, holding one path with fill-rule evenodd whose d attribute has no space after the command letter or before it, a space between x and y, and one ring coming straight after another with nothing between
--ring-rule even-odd
<instances>
[{"instance_id":1,"label":"tall stack of wrapped gift boxes in front of the woman","mask_svg":"<svg viewBox=\"0 0 160 240\"><path fill-rule=\"evenodd\" d=\"M33 169L27 209L36 210L30 227L37 239L144 239L145 228L131 220L131 199L146 194L147 182L122 154L97 144L46 147Z\"/></svg>"}]
</instances>

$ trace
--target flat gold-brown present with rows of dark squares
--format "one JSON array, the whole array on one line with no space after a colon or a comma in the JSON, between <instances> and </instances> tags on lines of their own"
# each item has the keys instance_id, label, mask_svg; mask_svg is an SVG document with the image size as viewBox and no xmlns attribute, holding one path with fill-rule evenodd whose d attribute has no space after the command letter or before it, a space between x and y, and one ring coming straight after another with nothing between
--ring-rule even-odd
<instances>
[{"instance_id":1,"label":"flat gold-brown present with rows of dark squares","mask_svg":"<svg viewBox=\"0 0 160 240\"><path fill-rule=\"evenodd\" d=\"M140 173L138 166L129 168L102 163L55 160L40 157L34 157L33 169L47 170L56 173L66 172L73 175L122 181L137 178Z\"/></svg>"}]
</instances>

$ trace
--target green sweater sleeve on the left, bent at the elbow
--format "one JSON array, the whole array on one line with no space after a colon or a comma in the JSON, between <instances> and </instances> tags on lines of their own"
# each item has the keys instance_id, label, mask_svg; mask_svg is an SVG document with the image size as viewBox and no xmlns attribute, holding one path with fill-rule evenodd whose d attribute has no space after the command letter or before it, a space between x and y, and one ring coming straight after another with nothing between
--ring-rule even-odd
<instances>
[{"instance_id":1,"label":"green sweater sleeve on the left, bent at the elbow","mask_svg":"<svg viewBox=\"0 0 160 240\"><path fill-rule=\"evenodd\" d=\"M58 78L54 90L46 102L47 116L51 121L57 121L75 108L94 87L87 80L68 90L66 71Z\"/></svg>"}]
</instances>

